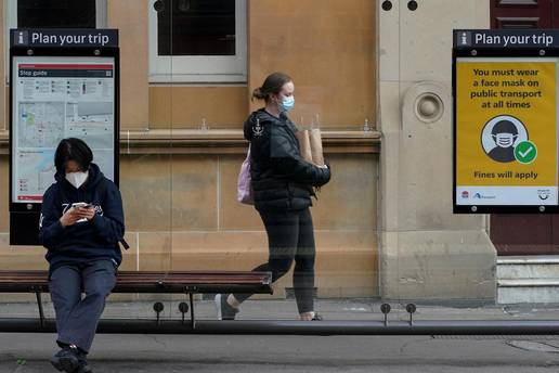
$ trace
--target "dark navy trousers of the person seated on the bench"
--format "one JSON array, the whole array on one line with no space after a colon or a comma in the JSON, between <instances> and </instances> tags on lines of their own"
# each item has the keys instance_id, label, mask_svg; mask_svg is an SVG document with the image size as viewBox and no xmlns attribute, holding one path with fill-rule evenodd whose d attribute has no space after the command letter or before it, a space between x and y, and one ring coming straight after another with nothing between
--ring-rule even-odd
<instances>
[{"instance_id":1,"label":"dark navy trousers of the person seated on the bench","mask_svg":"<svg viewBox=\"0 0 559 373\"><path fill-rule=\"evenodd\" d=\"M116 283L116 267L112 260L94 260L80 265L64 265L54 270L49 283L58 343L76 345L89 352L105 298ZM81 290L86 297L81 299Z\"/></svg>"}]
</instances>

